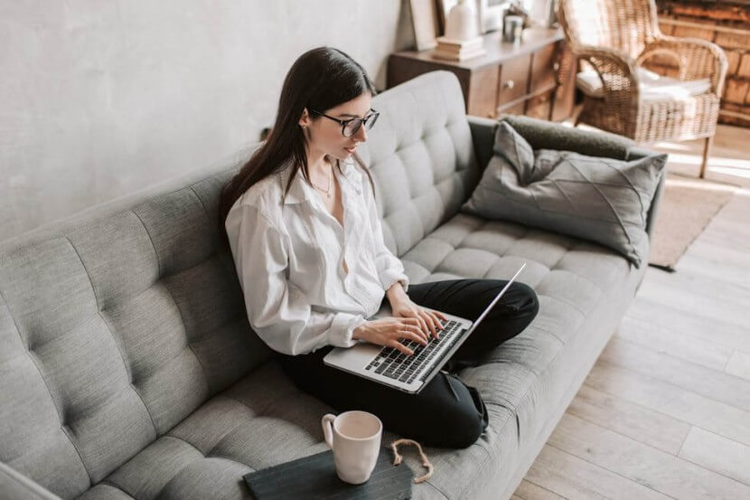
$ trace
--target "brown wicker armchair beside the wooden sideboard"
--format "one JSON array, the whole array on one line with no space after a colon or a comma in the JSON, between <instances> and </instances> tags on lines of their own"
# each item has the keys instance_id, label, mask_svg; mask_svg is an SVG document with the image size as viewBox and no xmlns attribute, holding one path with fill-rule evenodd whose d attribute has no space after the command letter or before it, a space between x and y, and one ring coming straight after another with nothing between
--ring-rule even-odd
<instances>
[{"instance_id":1,"label":"brown wicker armchair beside the wooden sideboard","mask_svg":"<svg viewBox=\"0 0 750 500\"><path fill-rule=\"evenodd\" d=\"M576 62L586 61L598 75L602 96L584 95L578 123L631 137L639 143L705 138L700 177L716 132L727 56L712 42L661 33L654 0L559 0L558 19ZM708 79L710 87L680 99L643 99L646 59L677 61L680 82Z\"/></svg>"}]
</instances>

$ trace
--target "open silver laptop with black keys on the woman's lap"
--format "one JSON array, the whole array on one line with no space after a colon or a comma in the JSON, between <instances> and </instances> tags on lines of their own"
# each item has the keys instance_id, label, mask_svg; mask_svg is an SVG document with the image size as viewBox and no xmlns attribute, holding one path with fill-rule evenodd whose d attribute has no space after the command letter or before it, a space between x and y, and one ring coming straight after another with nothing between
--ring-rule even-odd
<instances>
[{"instance_id":1,"label":"open silver laptop with black keys on the woman's lap","mask_svg":"<svg viewBox=\"0 0 750 500\"><path fill-rule=\"evenodd\" d=\"M484 316L487 316L525 267L526 262L475 320L440 311L448 318L447 322L443 322L445 328L437 331L440 338L436 339L430 332L427 345L401 339L401 344L406 345L414 354L403 354L395 347L370 344L361 340L359 344L352 347L334 347L323 357L323 363L383 383L399 391L420 392L443 368L461 344L464 344L469 335L472 335L474 328L482 323ZM386 316L391 316L388 301L384 301L380 310L368 319Z\"/></svg>"}]
</instances>

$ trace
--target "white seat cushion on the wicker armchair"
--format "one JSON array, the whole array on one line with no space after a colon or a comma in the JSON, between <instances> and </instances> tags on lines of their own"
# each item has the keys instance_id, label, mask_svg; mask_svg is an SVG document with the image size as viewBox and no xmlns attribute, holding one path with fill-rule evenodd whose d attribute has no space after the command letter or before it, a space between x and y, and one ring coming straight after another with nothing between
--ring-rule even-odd
<instances>
[{"instance_id":1,"label":"white seat cushion on the wicker armchair","mask_svg":"<svg viewBox=\"0 0 750 500\"><path fill-rule=\"evenodd\" d=\"M639 89L642 100L680 100L705 94L711 90L711 80L677 80L661 76L645 68L638 68ZM576 76L578 89L589 97L604 98L605 90L596 71L581 71Z\"/></svg>"}]
</instances>

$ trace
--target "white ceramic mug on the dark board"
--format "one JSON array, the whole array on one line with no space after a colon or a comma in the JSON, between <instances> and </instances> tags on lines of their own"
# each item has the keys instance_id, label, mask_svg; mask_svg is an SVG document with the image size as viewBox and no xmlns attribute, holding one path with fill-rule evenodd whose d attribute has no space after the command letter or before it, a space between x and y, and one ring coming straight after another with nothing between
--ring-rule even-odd
<instances>
[{"instance_id":1,"label":"white ceramic mug on the dark board","mask_svg":"<svg viewBox=\"0 0 750 500\"><path fill-rule=\"evenodd\" d=\"M367 411L350 410L323 415L323 437L333 450L336 475L352 485L370 479L378 462L383 423Z\"/></svg>"}]
</instances>

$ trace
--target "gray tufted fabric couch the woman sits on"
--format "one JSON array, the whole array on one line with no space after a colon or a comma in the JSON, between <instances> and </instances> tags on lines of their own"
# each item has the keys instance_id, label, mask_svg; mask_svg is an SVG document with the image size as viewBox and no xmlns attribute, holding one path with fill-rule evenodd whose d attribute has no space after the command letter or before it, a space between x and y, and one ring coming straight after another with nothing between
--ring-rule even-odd
<instances>
[{"instance_id":1,"label":"gray tufted fabric couch the woman sits on","mask_svg":"<svg viewBox=\"0 0 750 500\"><path fill-rule=\"evenodd\" d=\"M460 373L487 402L489 428L468 448L426 448L435 473L414 485L417 499L508 498L645 266L459 212L496 122L465 116L452 73L410 80L373 107L380 121L361 155L386 242L412 282L509 278L528 262L520 280L536 290L539 315ZM517 125L535 144L569 139L561 126ZM577 137L642 154L617 137ZM326 449L320 418L335 410L300 392L252 333L231 256L217 246L218 195L239 157L0 246L0 497L245 498L242 475ZM396 437L385 429L383 442Z\"/></svg>"}]
</instances>

